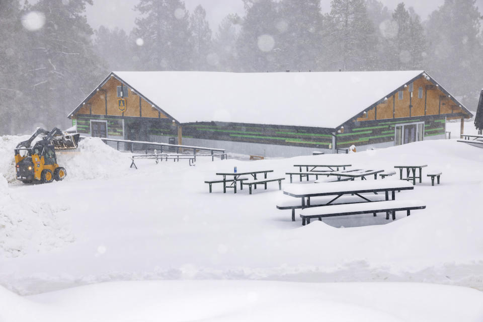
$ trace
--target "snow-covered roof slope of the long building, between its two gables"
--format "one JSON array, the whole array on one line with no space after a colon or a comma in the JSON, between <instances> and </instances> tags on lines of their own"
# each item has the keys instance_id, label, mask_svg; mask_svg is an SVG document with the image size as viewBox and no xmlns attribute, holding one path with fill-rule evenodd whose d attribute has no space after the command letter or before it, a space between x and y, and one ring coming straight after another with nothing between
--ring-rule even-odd
<instances>
[{"instance_id":1,"label":"snow-covered roof slope of the long building, between its two gables","mask_svg":"<svg viewBox=\"0 0 483 322\"><path fill-rule=\"evenodd\" d=\"M423 71L113 73L181 123L336 128Z\"/></svg>"}]
</instances>

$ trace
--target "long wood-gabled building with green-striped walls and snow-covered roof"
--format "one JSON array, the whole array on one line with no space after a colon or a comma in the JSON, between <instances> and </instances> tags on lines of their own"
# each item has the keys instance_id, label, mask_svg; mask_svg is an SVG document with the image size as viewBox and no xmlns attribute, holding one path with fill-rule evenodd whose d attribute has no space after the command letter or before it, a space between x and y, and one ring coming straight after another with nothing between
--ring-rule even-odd
<instances>
[{"instance_id":1,"label":"long wood-gabled building with green-striped walls and snow-covered roof","mask_svg":"<svg viewBox=\"0 0 483 322\"><path fill-rule=\"evenodd\" d=\"M68 117L85 135L292 156L444 138L472 114L423 70L113 71Z\"/></svg>"}]
</instances>

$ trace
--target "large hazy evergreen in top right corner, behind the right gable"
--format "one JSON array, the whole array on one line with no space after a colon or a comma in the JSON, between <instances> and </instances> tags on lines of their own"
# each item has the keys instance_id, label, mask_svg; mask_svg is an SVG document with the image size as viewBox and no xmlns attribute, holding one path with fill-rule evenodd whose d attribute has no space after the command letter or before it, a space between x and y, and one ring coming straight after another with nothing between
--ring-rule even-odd
<instances>
[{"instance_id":1,"label":"large hazy evergreen in top right corner, behind the right gable","mask_svg":"<svg viewBox=\"0 0 483 322\"><path fill-rule=\"evenodd\" d=\"M475 0L445 0L426 25L428 72L470 109L483 84L480 20Z\"/></svg>"}]
</instances>

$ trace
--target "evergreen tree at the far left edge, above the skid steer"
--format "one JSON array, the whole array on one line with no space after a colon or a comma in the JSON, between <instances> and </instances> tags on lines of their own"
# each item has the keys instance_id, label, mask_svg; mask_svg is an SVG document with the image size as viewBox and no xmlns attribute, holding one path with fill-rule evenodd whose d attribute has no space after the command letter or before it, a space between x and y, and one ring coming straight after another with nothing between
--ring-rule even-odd
<instances>
[{"instance_id":1,"label":"evergreen tree at the far left edge, above the skid steer","mask_svg":"<svg viewBox=\"0 0 483 322\"><path fill-rule=\"evenodd\" d=\"M21 24L21 9L16 1L0 2L0 135L25 130L31 114L26 88L28 43Z\"/></svg>"}]
</instances>

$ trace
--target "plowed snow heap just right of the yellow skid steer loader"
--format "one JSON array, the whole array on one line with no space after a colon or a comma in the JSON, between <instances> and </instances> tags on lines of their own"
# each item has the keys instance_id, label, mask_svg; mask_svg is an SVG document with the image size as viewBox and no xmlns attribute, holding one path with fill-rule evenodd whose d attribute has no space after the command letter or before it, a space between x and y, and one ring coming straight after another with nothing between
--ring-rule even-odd
<instances>
[{"instance_id":1,"label":"plowed snow heap just right of the yellow skid steer loader","mask_svg":"<svg viewBox=\"0 0 483 322\"><path fill-rule=\"evenodd\" d=\"M98 137L88 137L79 142L77 151L57 152L57 162L67 171L65 180L107 179L129 170L130 155Z\"/></svg>"}]
</instances>

